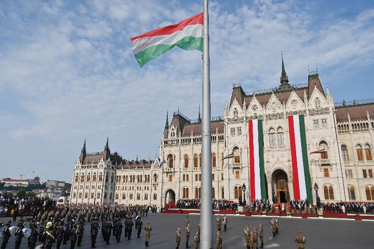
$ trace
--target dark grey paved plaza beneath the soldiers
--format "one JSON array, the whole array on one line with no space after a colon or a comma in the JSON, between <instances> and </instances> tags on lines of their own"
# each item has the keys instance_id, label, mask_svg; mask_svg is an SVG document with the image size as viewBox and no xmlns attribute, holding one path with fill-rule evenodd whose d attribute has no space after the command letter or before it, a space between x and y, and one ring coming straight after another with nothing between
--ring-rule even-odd
<instances>
[{"instance_id":1,"label":"dark grey paved plaza beneath the soldiers","mask_svg":"<svg viewBox=\"0 0 374 249\"><path fill-rule=\"evenodd\" d=\"M182 228L182 239L179 248L185 248L185 215L149 213L148 218L153 229L150 248L175 248L174 232L178 225ZM226 232L223 231L222 226L223 248L246 248L243 239L245 225L249 224L250 227L258 227L259 223L264 226L264 248L296 248L294 238L298 229L302 230L305 235L306 248L373 248L372 231L374 222L372 221L278 218L279 233L276 237L272 237L270 230L271 217L227 216L227 218L228 226ZM189 245L191 247L193 247L193 234L197 229L199 219L200 215L190 215L191 236ZM144 217L143 223L146 223L146 221L147 217ZM28 227L28 223L26 227ZM87 222L82 245L78 248L90 248L89 228L90 224ZM216 226L214 226L214 229L216 229ZM123 231L121 242L118 243L115 237L111 236L111 244L106 245L102 239L101 230L99 230L97 247L108 249L118 247L143 248L145 247L144 240L145 231L142 230L141 238L137 238L136 230L134 229L131 240L127 240L124 237ZM12 237L7 248L14 248L14 241L15 237ZM22 248L27 248L26 238L22 240ZM56 243L53 244L52 248L56 248ZM61 245L61 249L68 248L70 248L70 241L66 245Z\"/></svg>"}]
</instances>

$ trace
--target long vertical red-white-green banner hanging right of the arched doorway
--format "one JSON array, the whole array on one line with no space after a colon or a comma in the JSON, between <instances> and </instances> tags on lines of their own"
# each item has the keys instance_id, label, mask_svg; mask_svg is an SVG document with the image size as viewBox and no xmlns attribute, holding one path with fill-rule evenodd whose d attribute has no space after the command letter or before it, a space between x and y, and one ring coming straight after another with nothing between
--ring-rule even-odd
<instances>
[{"instance_id":1,"label":"long vertical red-white-green banner hanging right of the arched doorway","mask_svg":"<svg viewBox=\"0 0 374 249\"><path fill-rule=\"evenodd\" d=\"M295 200L312 203L304 115L288 116Z\"/></svg>"}]
</instances>

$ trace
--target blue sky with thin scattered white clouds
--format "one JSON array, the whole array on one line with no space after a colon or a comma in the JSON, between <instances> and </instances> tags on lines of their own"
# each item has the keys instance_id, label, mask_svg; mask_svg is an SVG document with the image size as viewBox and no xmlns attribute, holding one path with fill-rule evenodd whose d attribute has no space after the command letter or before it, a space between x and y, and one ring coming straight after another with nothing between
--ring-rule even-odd
<instances>
[{"instance_id":1,"label":"blue sky with thin scattered white clouds","mask_svg":"<svg viewBox=\"0 0 374 249\"><path fill-rule=\"evenodd\" d=\"M203 1L1 1L0 178L70 181L88 152L153 159L166 110L197 117L201 53L174 48L140 69L129 38L202 11ZM372 1L211 1L212 116L232 83L279 85L318 67L336 102L373 97Z\"/></svg>"}]
</instances>

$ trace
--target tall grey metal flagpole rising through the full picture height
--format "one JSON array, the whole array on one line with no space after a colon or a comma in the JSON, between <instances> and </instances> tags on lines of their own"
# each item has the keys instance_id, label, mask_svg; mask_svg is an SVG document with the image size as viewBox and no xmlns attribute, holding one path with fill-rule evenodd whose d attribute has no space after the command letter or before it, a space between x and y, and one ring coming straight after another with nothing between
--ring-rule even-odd
<instances>
[{"instance_id":1,"label":"tall grey metal flagpole rising through the full picture height","mask_svg":"<svg viewBox=\"0 0 374 249\"><path fill-rule=\"evenodd\" d=\"M209 15L208 0L204 0L204 50L203 50L203 120L202 120L202 165L201 165L201 207L200 207L200 248L213 248L212 208L212 145L210 123L210 61L209 61Z\"/></svg>"}]
</instances>

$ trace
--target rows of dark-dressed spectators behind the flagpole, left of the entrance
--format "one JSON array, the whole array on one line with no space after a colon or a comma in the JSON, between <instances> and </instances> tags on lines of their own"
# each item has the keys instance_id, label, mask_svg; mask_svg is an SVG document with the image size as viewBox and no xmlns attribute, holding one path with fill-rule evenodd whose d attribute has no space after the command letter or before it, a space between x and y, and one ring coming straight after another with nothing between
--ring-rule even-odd
<instances>
[{"instance_id":1,"label":"rows of dark-dressed spectators behind the flagpole, left of the entrance","mask_svg":"<svg viewBox=\"0 0 374 249\"><path fill-rule=\"evenodd\" d=\"M180 209L200 209L200 199L179 199L175 203ZM227 200L212 200L212 208L215 210L238 210L239 204Z\"/></svg>"}]
</instances>

